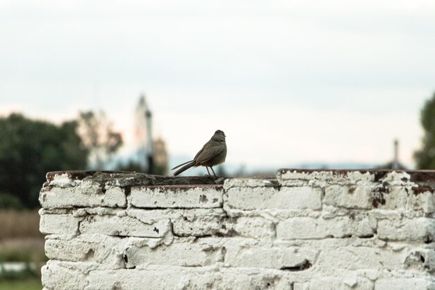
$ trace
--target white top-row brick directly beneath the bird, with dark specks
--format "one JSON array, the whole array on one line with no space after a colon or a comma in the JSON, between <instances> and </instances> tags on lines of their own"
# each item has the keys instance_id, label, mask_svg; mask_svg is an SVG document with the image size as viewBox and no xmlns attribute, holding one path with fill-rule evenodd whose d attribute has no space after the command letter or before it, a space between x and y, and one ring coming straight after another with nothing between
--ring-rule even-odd
<instances>
[{"instance_id":1,"label":"white top-row brick directly beneath the bird, with dark specks","mask_svg":"<svg viewBox=\"0 0 435 290\"><path fill-rule=\"evenodd\" d=\"M129 202L145 208L222 207L222 187L216 186L138 186L131 188Z\"/></svg>"}]
</instances>

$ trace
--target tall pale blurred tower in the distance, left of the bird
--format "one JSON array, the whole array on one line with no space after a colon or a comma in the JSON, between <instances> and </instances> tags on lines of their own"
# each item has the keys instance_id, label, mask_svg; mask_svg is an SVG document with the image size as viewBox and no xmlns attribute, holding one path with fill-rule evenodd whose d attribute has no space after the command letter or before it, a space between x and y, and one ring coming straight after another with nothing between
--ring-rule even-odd
<instances>
[{"instance_id":1,"label":"tall pale blurred tower in the distance, left of the bird","mask_svg":"<svg viewBox=\"0 0 435 290\"><path fill-rule=\"evenodd\" d=\"M153 140L151 132L151 111L147 106L145 95L140 95L135 112L134 137L138 145L137 161L142 168L148 168L152 173L153 164Z\"/></svg>"}]
</instances>

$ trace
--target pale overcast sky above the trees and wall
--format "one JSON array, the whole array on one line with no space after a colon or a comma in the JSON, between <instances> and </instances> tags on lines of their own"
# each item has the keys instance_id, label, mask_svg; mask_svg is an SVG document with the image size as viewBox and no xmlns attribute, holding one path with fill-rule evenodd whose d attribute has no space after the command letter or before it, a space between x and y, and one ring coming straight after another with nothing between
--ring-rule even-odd
<instances>
[{"instance_id":1,"label":"pale overcast sky above the trees and wall","mask_svg":"<svg viewBox=\"0 0 435 290\"><path fill-rule=\"evenodd\" d=\"M0 1L0 115L103 110L132 140L145 93L172 157L221 129L227 163L412 168L435 91L435 2Z\"/></svg>"}]
</instances>

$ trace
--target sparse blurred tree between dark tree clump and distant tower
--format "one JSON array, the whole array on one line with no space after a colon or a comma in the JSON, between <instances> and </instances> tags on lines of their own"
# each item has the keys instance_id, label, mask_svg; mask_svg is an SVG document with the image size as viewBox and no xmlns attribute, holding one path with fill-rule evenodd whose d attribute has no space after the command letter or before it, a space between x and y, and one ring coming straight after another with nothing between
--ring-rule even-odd
<instances>
[{"instance_id":1,"label":"sparse blurred tree between dark tree clump and distant tower","mask_svg":"<svg viewBox=\"0 0 435 290\"><path fill-rule=\"evenodd\" d=\"M113 124L102 111L81 112L78 133L89 150L89 166L104 169L104 165L122 145L122 135L113 131Z\"/></svg>"}]
</instances>

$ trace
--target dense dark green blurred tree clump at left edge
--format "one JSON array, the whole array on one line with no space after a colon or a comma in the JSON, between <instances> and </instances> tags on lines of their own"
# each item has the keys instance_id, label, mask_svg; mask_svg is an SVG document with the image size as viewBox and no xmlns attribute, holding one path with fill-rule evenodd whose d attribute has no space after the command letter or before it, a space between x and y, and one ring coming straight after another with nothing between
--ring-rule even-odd
<instances>
[{"instance_id":1,"label":"dense dark green blurred tree clump at left edge","mask_svg":"<svg viewBox=\"0 0 435 290\"><path fill-rule=\"evenodd\" d=\"M84 169L88 150L76 127L74 121L56 126L20 114L0 118L0 191L38 207L47 172Z\"/></svg>"}]
</instances>

